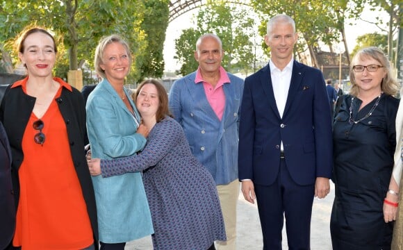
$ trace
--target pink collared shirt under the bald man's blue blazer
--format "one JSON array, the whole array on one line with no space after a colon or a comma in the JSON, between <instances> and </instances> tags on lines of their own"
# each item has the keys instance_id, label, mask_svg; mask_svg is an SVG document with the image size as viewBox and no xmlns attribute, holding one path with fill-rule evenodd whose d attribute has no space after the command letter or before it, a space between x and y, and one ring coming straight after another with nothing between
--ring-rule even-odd
<instances>
[{"instance_id":1,"label":"pink collared shirt under the bald man's blue blazer","mask_svg":"<svg viewBox=\"0 0 403 250\"><path fill-rule=\"evenodd\" d=\"M220 66L220 79L218 80L217 85L215 85L215 88L213 88L210 83L206 83L206 81L204 81L200 73L200 67L197 69L195 83L203 83L207 101L210 103L211 108L213 108L217 118L221 121L225 108L225 94L222 85L224 85L224 83L230 83L225 69Z\"/></svg>"}]
</instances>

